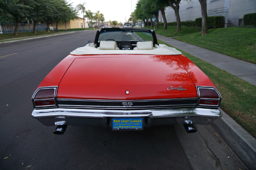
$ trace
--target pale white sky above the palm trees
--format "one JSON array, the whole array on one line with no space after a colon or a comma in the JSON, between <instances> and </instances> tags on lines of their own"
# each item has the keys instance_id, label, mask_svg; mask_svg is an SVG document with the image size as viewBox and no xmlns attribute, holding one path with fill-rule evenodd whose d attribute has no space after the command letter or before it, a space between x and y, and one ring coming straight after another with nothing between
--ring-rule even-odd
<instances>
[{"instance_id":1,"label":"pale white sky above the palm trees","mask_svg":"<svg viewBox=\"0 0 256 170\"><path fill-rule=\"evenodd\" d=\"M90 10L93 13L99 11L104 15L105 21L116 20L118 23L125 23L130 18L131 8L134 11L138 0L67 0L73 3L75 8L79 3L86 3L85 10ZM83 17L81 11L79 17Z\"/></svg>"}]
</instances>

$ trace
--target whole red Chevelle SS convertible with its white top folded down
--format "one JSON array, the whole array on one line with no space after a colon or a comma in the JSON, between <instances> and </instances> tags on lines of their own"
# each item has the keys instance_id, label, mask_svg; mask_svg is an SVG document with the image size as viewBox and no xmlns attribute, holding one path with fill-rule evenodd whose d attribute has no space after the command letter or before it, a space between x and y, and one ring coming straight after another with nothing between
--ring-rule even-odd
<instances>
[{"instance_id":1,"label":"whole red Chevelle SS convertible with its white top folded down","mask_svg":"<svg viewBox=\"0 0 256 170\"><path fill-rule=\"evenodd\" d=\"M153 30L102 28L72 51L36 89L32 117L55 134L68 125L143 130L207 125L222 116L221 95L180 51L158 44Z\"/></svg>"}]
</instances>

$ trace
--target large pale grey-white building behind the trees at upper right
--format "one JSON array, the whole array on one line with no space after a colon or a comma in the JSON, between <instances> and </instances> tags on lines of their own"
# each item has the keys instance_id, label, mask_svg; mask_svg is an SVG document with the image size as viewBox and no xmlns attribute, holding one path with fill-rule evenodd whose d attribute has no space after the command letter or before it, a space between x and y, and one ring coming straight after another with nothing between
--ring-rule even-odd
<instances>
[{"instance_id":1,"label":"large pale grey-white building behind the trees at upper right","mask_svg":"<svg viewBox=\"0 0 256 170\"><path fill-rule=\"evenodd\" d=\"M181 0L180 21L194 21L202 17L199 1L192 1ZM207 11L208 16L224 16L225 23L230 20L233 25L241 26L244 14L256 13L256 0L207 0ZM171 7L167 7L165 13L167 23L176 22Z\"/></svg>"}]
</instances>

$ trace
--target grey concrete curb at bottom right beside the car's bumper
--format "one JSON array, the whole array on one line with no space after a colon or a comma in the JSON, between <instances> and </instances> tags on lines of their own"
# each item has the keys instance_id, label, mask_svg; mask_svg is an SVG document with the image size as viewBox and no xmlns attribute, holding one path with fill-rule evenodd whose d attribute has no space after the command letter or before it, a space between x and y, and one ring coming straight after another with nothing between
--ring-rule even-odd
<instances>
[{"instance_id":1,"label":"grey concrete curb at bottom right beside the car's bumper","mask_svg":"<svg viewBox=\"0 0 256 170\"><path fill-rule=\"evenodd\" d=\"M256 139L221 110L223 116L212 122L221 137L230 145L250 170L256 170Z\"/></svg>"}]
</instances>

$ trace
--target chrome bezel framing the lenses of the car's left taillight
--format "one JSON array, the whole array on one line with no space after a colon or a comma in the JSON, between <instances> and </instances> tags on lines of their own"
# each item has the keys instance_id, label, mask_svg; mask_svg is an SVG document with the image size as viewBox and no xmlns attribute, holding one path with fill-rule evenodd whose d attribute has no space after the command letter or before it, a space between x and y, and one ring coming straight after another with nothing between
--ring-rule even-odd
<instances>
[{"instance_id":1,"label":"chrome bezel framing the lenses of the car's left taillight","mask_svg":"<svg viewBox=\"0 0 256 170\"><path fill-rule=\"evenodd\" d=\"M47 89L53 89L54 90L54 94L53 97L49 97L49 98L44 98L44 99L35 99L36 95L38 94L39 91L41 90L47 90ZM40 87L38 88L35 93L32 96L32 102L33 102L33 106L34 108L57 108L57 89L58 86L49 86L49 87ZM36 102L49 102L49 101L54 101L54 104L50 104L50 105L36 105Z\"/></svg>"}]
</instances>

